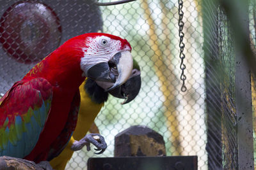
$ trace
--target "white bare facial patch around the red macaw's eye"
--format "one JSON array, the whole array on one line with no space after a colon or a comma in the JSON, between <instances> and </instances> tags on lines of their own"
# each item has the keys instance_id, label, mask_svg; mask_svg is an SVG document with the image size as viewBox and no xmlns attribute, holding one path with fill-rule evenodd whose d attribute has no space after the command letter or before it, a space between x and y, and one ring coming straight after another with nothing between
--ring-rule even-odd
<instances>
[{"instance_id":1,"label":"white bare facial patch around the red macaw's eye","mask_svg":"<svg viewBox=\"0 0 256 170\"><path fill-rule=\"evenodd\" d=\"M84 72L83 76L87 76L87 71L90 67L100 62L108 62L121 47L121 42L116 39L111 39L107 36L97 36L95 38L87 38L86 44L88 47L83 48L84 57L81 58L81 69Z\"/></svg>"}]
</instances>

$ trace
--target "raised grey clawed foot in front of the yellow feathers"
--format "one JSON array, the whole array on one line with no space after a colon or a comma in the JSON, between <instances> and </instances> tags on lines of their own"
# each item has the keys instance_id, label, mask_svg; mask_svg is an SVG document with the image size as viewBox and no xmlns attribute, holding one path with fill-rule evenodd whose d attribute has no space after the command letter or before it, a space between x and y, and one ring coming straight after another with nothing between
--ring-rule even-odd
<instances>
[{"instance_id":1,"label":"raised grey clawed foot in front of the yellow feathers","mask_svg":"<svg viewBox=\"0 0 256 170\"><path fill-rule=\"evenodd\" d=\"M84 138L80 141L74 141L73 145L71 146L71 150L81 150L83 146L86 145L87 151L90 151L90 143L97 147L95 150L100 150L98 153L95 152L96 154L103 153L107 148L107 144L103 136L100 134L86 134L86 136L84 136Z\"/></svg>"}]
</instances>

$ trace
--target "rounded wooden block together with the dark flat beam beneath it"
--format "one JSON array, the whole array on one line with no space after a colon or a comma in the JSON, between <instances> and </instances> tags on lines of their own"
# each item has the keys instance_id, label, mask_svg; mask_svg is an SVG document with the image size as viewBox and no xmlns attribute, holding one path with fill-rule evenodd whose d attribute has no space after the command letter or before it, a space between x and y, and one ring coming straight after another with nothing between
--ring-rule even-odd
<instances>
[{"instance_id":1,"label":"rounded wooden block together with the dark flat beam beneath it","mask_svg":"<svg viewBox=\"0 0 256 170\"><path fill-rule=\"evenodd\" d=\"M197 169L196 156L166 157L163 136L143 125L134 125L115 136L114 155L88 159L88 170Z\"/></svg>"}]
</instances>

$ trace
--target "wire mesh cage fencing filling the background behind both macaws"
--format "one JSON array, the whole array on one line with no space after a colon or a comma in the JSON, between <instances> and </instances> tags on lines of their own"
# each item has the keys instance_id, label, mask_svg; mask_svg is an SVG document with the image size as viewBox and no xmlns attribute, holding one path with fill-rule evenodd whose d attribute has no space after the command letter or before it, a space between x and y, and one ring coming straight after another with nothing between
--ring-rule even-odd
<instances>
[{"instance_id":1,"label":"wire mesh cage fencing filling the background behind both macaws","mask_svg":"<svg viewBox=\"0 0 256 170\"><path fill-rule=\"evenodd\" d=\"M118 132L147 125L163 135L167 155L197 155L199 169L237 169L236 52L225 10L214 2L182 3L187 89L182 92L180 1L138 0L100 7L85 0L0 1L0 93L67 39L86 32L115 34L131 43L142 84L131 103L121 105L120 99L109 96L95 119L108 143L97 157L113 156ZM248 9L254 46L255 1ZM86 148L75 152L66 169L86 169L88 157L96 155Z\"/></svg>"}]
</instances>

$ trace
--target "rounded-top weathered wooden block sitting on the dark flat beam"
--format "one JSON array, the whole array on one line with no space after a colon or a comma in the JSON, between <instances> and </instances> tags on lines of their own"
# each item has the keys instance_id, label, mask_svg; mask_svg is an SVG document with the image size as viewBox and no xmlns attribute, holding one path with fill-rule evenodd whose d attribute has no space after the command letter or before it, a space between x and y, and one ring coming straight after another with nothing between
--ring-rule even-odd
<instances>
[{"instance_id":1,"label":"rounded-top weathered wooden block sitting on the dark flat beam","mask_svg":"<svg viewBox=\"0 0 256 170\"><path fill-rule=\"evenodd\" d=\"M134 125L115 136L115 157L165 155L163 136L146 126Z\"/></svg>"}]
</instances>

